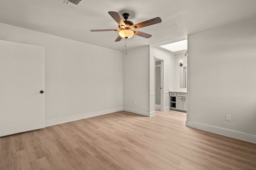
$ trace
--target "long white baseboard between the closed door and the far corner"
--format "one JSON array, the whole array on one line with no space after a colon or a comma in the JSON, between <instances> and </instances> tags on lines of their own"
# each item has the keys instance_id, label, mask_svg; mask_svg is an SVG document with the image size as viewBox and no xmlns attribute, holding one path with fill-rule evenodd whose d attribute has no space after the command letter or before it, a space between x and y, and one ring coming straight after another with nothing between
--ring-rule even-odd
<instances>
[{"instance_id":1,"label":"long white baseboard between the closed door and the far corner","mask_svg":"<svg viewBox=\"0 0 256 170\"><path fill-rule=\"evenodd\" d=\"M100 111L95 111L95 112L91 112L91 113L84 113L81 115L74 115L74 116L63 117L63 118L59 118L59 119L48 120L48 121L45 121L45 127L52 126L52 125L58 125L61 123L67 123L70 121L76 121L76 120L80 120L80 119L86 119L89 117L105 115L108 113L114 113L116 111L122 111L122 110L123 110L123 107L117 107L117 108L113 108L113 109L100 110Z\"/></svg>"}]
</instances>

